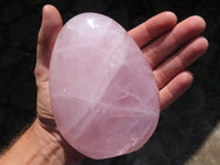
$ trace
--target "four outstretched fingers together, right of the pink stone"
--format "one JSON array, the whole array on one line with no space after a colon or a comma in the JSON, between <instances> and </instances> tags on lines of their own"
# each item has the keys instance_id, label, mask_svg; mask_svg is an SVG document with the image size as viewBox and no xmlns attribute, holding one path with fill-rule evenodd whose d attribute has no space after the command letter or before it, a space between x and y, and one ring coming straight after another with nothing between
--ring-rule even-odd
<instances>
[{"instance_id":1,"label":"four outstretched fingers together, right of the pink stone","mask_svg":"<svg viewBox=\"0 0 220 165\"><path fill-rule=\"evenodd\" d=\"M194 77L185 69L208 48L208 41L200 36L206 28L202 18L176 22L174 13L163 12L129 32L153 68L161 110L190 87Z\"/></svg>"}]
</instances>

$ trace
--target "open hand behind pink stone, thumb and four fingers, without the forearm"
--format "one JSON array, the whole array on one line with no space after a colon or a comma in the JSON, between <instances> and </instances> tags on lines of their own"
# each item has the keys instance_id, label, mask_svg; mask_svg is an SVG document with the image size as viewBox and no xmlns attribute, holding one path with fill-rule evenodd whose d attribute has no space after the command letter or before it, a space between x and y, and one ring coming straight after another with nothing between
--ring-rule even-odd
<instances>
[{"instance_id":1,"label":"open hand behind pink stone, thumb and four fingers, without the forearm","mask_svg":"<svg viewBox=\"0 0 220 165\"><path fill-rule=\"evenodd\" d=\"M177 19L172 12L163 12L150 19L129 33L142 48L153 68L160 89L161 109L177 99L193 82L193 75L185 68L204 54L208 42L199 34L206 23L199 16L191 16L176 25ZM54 118L48 90L48 68L52 50L63 26L58 11L45 6L38 33L35 78L37 86L37 122L63 145L64 151L76 155L59 134ZM176 52L178 50L178 52Z\"/></svg>"}]
</instances>

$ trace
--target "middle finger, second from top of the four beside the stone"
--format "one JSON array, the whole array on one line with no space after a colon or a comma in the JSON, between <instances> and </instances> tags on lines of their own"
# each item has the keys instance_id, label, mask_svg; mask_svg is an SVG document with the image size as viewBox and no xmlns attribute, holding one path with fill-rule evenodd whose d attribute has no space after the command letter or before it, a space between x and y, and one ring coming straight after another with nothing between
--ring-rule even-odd
<instances>
[{"instance_id":1,"label":"middle finger, second from top of the four beside the stone","mask_svg":"<svg viewBox=\"0 0 220 165\"><path fill-rule=\"evenodd\" d=\"M190 38L200 34L206 28L206 22L200 16L190 16L178 23L172 31L158 37L142 51L152 68L155 68L170 54L177 51Z\"/></svg>"}]
</instances>

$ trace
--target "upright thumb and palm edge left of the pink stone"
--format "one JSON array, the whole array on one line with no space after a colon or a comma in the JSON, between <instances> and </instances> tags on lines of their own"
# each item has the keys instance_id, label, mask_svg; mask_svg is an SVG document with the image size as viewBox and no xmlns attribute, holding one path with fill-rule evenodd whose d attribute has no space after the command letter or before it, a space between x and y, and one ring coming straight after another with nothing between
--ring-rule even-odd
<instances>
[{"instance_id":1,"label":"upright thumb and palm edge left of the pink stone","mask_svg":"<svg viewBox=\"0 0 220 165\"><path fill-rule=\"evenodd\" d=\"M82 160L84 155L74 150L61 135L55 124L50 98L48 68L53 46L63 21L59 12L53 6L45 6L43 9L42 26L38 32L35 79L37 87L36 110L37 118L35 123L51 134L51 139L62 145L65 153L65 162L69 164ZM67 163L67 164L68 164Z\"/></svg>"}]
</instances>

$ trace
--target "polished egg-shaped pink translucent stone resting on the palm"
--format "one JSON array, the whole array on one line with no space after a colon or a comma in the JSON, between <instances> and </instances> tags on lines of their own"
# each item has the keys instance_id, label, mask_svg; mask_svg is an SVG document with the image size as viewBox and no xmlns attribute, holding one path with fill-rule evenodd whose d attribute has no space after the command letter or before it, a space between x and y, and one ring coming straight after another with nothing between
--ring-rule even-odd
<instances>
[{"instance_id":1,"label":"polished egg-shaped pink translucent stone resting on the palm","mask_svg":"<svg viewBox=\"0 0 220 165\"><path fill-rule=\"evenodd\" d=\"M91 158L136 151L157 125L158 89L150 65L127 31L101 14L79 14L63 26L50 91L61 133Z\"/></svg>"}]
</instances>

